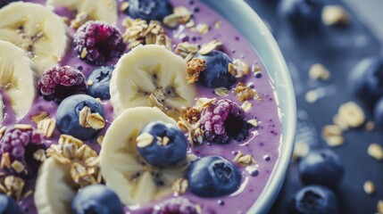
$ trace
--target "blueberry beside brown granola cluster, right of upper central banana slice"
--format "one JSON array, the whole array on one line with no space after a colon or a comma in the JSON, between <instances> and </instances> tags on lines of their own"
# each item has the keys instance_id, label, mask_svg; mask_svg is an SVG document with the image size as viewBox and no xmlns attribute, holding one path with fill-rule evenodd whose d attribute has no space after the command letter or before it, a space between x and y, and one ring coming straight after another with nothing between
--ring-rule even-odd
<instances>
[{"instance_id":1,"label":"blueberry beside brown granola cluster, right of upper central banana slice","mask_svg":"<svg viewBox=\"0 0 383 214\"><path fill-rule=\"evenodd\" d=\"M229 63L232 63L230 57L221 51L212 51L204 55L198 54L196 58L205 61L205 70L201 72L198 83L207 87L227 87L236 83L229 73Z\"/></svg>"}]
</instances>

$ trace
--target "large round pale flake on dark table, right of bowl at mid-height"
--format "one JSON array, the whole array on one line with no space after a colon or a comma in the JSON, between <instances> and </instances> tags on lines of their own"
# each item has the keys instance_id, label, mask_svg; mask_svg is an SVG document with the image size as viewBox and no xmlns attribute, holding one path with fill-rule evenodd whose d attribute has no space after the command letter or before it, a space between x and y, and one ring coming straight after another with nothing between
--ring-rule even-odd
<instances>
[{"instance_id":1,"label":"large round pale flake on dark table, right of bowl at mid-height","mask_svg":"<svg viewBox=\"0 0 383 214\"><path fill-rule=\"evenodd\" d=\"M337 113L339 122L349 128L358 128L364 124L365 116L362 108L354 102L344 103Z\"/></svg>"}]
</instances>

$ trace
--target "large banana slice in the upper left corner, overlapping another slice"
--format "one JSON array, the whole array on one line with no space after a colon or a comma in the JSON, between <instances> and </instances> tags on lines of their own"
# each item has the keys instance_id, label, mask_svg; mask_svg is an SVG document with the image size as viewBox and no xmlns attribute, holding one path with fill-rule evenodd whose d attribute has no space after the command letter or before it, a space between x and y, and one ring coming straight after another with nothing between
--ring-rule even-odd
<instances>
[{"instance_id":1,"label":"large banana slice in the upper left corner, overlapping another slice","mask_svg":"<svg viewBox=\"0 0 383 214\"><path fill-rule=\"evenodd\" d=\"M70 44L68 32L60 16L41 4L17 2L0 10L0 40L28 53L37 78L61 61Z\"/></svg>"}]
</instances>

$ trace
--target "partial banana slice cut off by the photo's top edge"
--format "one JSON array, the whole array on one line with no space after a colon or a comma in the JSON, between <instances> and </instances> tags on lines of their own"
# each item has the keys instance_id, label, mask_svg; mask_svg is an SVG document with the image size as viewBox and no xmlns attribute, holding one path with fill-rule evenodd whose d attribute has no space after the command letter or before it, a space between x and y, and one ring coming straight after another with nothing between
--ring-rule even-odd
<instances>
[{"instance_id":1,"label":"partial banana slice cut off by the photo's top edge","mask_svg":"<svg viewBox=\"0 0 383 214\"><path fill-rule=\"evenodd\" d=\"M88 20L117 22L116 0L47 0L47 5L64 6L78 14L84 14Z\"/></svg>"}]
</instances>

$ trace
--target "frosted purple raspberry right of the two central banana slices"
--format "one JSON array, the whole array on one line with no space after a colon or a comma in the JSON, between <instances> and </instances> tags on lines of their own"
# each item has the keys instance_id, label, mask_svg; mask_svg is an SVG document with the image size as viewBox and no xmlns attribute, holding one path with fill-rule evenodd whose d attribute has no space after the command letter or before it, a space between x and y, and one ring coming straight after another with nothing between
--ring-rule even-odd
<instances>
[{"instance_id":1,"label":"frosted purple raspberry right of the two central banana slices","mask_svg":"<svg viewBox=\"0 0 383 214\"><path fill-rule=\"evenodd\" d=\"M245 111L230 100L216 100L201 113L201 128L207 141L227 144L230 137L244 140Z\"/></svg>"}]
</instances>

